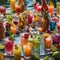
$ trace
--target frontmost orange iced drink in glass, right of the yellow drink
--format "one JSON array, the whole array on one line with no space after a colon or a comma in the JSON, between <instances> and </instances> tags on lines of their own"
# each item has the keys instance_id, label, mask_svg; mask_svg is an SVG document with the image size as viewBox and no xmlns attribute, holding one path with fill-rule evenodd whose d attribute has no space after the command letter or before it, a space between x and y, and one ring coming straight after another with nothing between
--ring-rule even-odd
<instances>
[{"instance_id":1,"label":"frontmost orange iced drink in glass, right of the yellow drink","mask_svg":"<svg viewBox=\"0 0 60 60\"><path fill-rule=\"evenodd\" d=\"M24 58L30 59L32 53L32 46L29 44L23 45L23 50L24 50Z\"/></svg>"}]
</instances>

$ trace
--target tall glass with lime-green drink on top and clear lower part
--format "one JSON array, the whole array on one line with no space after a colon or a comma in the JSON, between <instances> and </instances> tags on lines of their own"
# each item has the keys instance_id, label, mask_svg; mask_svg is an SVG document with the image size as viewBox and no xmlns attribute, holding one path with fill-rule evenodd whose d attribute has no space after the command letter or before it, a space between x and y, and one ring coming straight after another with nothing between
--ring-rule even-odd
<instances>
[{"instance_id":1,"label":"tall glass with lime-green drink on top and clear lower part","mask_svg":"<svg viewBox=\"0 0 60 60\"><path fill-rule=\"evenodd\" d=\"M32 55L36 56L37 60L39 60L40 56L40 42L41 42L41 35L32 35L29 37L29 42L31 42L33 46Z\"/></svg>"}]
</instances>

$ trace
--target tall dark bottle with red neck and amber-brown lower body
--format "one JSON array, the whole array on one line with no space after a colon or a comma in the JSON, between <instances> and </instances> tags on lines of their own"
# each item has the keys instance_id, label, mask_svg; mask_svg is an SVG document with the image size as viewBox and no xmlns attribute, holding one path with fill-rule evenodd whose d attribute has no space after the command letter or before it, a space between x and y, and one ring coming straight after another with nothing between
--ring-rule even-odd
<instances>
[{"instance_id":1,"label":"tall dark bottle with red neck and amber-brown lower body","mask_svg":"<svg viewBox=\"0 0 60 60\"><path fill-rule=\"evenodd\" d=\"M49 29L49 18L48 18L48 7L46 5L46 0L41 0L42 1L42 20L40 21L41 23L41 28L44 28L45 30Z\"/></svg>"}]
</instances>

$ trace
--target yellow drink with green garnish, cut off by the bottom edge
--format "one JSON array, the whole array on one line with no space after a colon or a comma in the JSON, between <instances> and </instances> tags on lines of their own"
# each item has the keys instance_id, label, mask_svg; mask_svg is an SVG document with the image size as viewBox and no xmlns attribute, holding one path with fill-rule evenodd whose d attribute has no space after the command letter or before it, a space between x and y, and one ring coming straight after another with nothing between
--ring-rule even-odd
<instances>
[{"instance_id":1,"label":"yellow drink with green garnish, cut off by the bottom edge","mask_svg":"<svg viewBox=\"0 0 60 60\"><path fill-rule=\"evenodd\" d=\"M15 45L13 48L14 60L21 60L21 46Z\"/></svg>"}]
</instances>

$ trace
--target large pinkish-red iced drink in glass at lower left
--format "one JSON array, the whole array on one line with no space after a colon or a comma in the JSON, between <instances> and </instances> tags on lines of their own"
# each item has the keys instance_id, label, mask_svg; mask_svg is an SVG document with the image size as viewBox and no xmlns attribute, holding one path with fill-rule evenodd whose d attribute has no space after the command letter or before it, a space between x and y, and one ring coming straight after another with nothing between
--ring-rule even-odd
<instances>
[{"instance_id":1,"label":"large pinkish-red iced drink in glass at lower left","mask_svg":"<svg viewBox=\"0 0 60 60\"><path fill-rule=\"evenodd\" d=\"M5 51L7 54L12 54L13 51L13 40L11 40L9 37L4 39L5 42Z\"/></svg>"}]
</instances>

